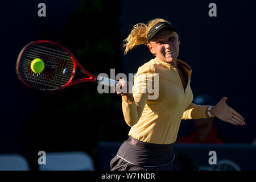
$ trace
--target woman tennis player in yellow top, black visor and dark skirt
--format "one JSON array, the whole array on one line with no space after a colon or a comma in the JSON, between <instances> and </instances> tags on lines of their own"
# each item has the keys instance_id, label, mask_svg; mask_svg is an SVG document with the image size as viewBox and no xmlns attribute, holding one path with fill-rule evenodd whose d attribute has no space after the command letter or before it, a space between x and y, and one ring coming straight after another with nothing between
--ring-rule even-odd
<instances>
[{"instance_id":1,"label":"woman tennis player in yellow top, black visor and dark skirt","mask_svg":"<svg viewBox=\"0 0 256 182\"><path fill-rule=\"evenodd\" d=\"M180 39L174 27L164 19L138 23L125 39L125 54L144 44L155 56L134 76L133 93L122 96L122 110L129 137L110 162L111 170L197 170L189 156L173 150L181 119L217 117L233 125L245 125L243 117L222 98L215 106L192 104L190 84L192 69L177 59ZM119 80L117 86L129 87ZM147 87L156 85L158 97ZM155 91L155 92L156 92Z\"/></svg>"}]
</instances>

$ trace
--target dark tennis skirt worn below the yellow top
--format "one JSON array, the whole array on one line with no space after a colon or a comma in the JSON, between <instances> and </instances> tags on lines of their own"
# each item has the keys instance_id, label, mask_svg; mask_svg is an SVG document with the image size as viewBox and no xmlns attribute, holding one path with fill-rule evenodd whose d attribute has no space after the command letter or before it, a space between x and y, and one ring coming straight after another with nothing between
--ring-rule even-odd
<instances>
[{"instance_id":1,"label":"dark tennis skirt worn below the yellow top","mask_svg":"<svg viewBox=\"0 0 256 182\"><path fill-rule=\"evenodd\" d=\"M111 171L197 171L199 166L173 144L153 144L129 137L110 161Z\"/></svg>"}]
</instances>

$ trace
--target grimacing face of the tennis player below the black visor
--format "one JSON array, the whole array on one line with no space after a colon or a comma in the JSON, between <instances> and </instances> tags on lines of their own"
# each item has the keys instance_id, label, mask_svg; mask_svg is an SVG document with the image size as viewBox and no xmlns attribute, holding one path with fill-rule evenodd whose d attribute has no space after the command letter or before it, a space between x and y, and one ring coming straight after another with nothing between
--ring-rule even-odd
<instances>
[{"instance_id":1,"label":"grimacing face of the tennis player below the black visor","mask_svg":"<svg viewBox=\"0 0 256 182\"><path fill-rule=\"evenodd\" d=\"M154 36L150 44L147 44L147 47L160 61L176 64L180 49L179 45L180 39L176 32L162 29Z\"/></svg>"}]
</instances>

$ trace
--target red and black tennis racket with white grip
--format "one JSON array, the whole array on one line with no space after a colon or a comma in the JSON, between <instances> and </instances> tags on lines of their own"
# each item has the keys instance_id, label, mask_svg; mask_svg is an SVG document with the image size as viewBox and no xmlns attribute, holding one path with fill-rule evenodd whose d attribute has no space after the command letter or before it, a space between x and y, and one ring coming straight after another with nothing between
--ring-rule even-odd
<instances>
[{"instance_id":1,"label":"red and black tennis racket with white grip","mask_svg":"<svg viewBox=\"0 0 256 182\"><path fill-rule=\"evenodd\" d=\"M30 67L32 60L37 58L44 62L40 73L34 73ZM77 68L88 77L73 80ZM22 48L16 62L16 73L28 88L42 91L58 91L86 81L107 86L118 84L116 80L89 73L67 48L48 40L31 42Z\"/></svg>"}]
</instances>

